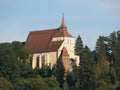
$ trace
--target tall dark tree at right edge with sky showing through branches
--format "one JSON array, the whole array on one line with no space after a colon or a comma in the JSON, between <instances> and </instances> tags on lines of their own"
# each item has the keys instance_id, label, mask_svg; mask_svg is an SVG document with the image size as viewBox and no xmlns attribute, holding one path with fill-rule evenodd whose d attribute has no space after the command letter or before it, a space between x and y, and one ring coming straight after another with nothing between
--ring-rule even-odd
<instances>
[{"instance_id":1,"label":"tall dark tree at right edge with sky showing through branches","mask_svg":"<svg viewBox=\"0 0 120 90\"><path fill-rule=\"evenodd\" d=\"M117 80L120 81L120 31L112 32L106 38L107 55L115 69Z\"/></svg>"}]
</instances>

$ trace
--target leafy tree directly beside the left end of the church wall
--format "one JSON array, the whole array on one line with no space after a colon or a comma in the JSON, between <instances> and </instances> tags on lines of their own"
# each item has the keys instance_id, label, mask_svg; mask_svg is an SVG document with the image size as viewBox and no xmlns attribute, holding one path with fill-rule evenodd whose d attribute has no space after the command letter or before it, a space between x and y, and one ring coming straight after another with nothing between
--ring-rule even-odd
<instances>
[{"instance_id":1,"label":"leafy tree directly beside the left end of the church wall","mask_svg":"<svg viewBox=\"0 0 120 90\"><path fill-rule=\"evenodd\" d=\"M31 56L29 53L24 49L24 46L19 41L13 41L11 43L12 50L15 53L16 58L19 61L19 67L20 67L20 74L22 77L26 78L27 74L31 71L30 67L30 59Z\"/></svg>"}]
</instances>

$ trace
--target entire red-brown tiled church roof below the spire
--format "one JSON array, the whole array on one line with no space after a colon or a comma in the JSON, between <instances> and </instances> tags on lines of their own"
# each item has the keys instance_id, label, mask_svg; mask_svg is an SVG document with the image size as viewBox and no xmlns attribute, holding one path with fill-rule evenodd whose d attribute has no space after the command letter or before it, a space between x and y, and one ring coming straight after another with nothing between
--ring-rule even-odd
<instances>
[{"instance_id":1,"label":"entire red-brown tiled church roof below the spire","mask_svg":"<svg viewBox=\"0 0 120 90\"><path fill-rule=\"evenodd\" d=\"M67 31L57 29L32 31L29 33L24 48L33 53L57 51L63 41L51 42L53 37L72 37Z\"/></svg>"}]
</instances>

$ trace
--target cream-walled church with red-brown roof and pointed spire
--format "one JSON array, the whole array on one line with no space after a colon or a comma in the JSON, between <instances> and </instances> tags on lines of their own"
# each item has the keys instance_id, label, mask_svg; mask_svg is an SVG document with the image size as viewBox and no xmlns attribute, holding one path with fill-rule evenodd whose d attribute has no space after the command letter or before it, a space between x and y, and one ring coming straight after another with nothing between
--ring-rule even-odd
<instances>
[{"instance_id":1,"label":"cream-walled church with red-brown roof and pointed spire","mask_svg":"<svg viewBox=\"0 0 120 90\"><path fill-rule=\"evenodd\" d=\"M79 56L75 55L74 37L68 32L64 17L61 25L55 29L31 31L24 48L33 53L32 68L42 65L53 67L62 57L65 71L71 71L72 65L79 65Z\"/></svg>"}]
</instances>

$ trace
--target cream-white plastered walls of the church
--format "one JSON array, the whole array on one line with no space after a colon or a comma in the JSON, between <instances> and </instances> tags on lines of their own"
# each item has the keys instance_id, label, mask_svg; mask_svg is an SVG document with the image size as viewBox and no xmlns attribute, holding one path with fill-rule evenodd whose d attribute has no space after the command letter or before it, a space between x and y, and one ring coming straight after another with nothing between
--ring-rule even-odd
<instances>
[{"instance_id":1,"label":"cream-white plastered walls of the church","mask_svg":"<svg viewBox=\"0 0 120 90\"><path fill-rule=\"evenodd\" d=\"M57 52L46 52L46 53L35 53L33 55L32 68L34 69L37 65L37 57L39 57L39 68L42 67L42 62L45 61L46 65L53 67L56 64L57 58L60 56L63 47L68 51L70 58L76 60L76 64L79 65L79 56L75 55L74 52L74 38L73 37L55 37L52 41L64 40Z\"/></svg>"}]
</instances>

